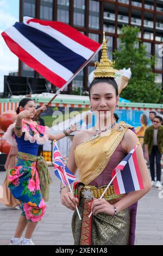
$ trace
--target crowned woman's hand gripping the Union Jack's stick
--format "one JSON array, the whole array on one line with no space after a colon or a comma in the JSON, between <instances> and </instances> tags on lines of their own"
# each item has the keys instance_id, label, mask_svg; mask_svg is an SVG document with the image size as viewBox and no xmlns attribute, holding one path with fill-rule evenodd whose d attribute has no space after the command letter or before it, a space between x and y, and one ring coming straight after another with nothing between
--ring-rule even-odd
<instances>
[{"instance_id":1,"label":"crowned woman's hand gripping the Union Jack's stick","mask_svg":"<svg viewBox=\"0 0 163 256\"><path fill-rule=\"evenodd\" d=\"M65 205L68 209L75 210L78 206L78 198L74 198L68 187L61 190L61 204Z\"/></svg>"}]
</instances>

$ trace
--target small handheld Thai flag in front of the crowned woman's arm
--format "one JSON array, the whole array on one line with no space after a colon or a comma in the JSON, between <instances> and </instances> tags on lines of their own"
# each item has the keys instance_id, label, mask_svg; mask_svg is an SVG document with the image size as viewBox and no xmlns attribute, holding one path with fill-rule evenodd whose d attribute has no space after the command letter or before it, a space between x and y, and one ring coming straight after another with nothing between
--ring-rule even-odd
<instances>
[{"instance_id":1,"label":"small handheld Thai flag in front of the crowned woman's arm","mask_svg":"<svg viewBox=\"0 0 163 256\"><path fill-rule=\"evenodd\" d=\"M116 194L129 193L131 191L143 190L143 181L136 156L137 145L112 171L112 181Z\"/></svg>"}]
</instances>

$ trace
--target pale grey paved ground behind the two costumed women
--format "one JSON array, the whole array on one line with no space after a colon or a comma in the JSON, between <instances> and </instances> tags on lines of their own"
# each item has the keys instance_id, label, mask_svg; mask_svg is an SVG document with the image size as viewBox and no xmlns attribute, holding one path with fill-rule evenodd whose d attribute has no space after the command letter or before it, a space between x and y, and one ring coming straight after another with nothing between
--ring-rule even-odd
<instances>
[{"instance_id":1,"label":"pale grey paved ground behind the two costumed women","mask_svg":"<svg viewBox=\"0 0 163 256\"><path fill-rule=\"evenodd\" d=\"M33 240L36 245L73 245L71 234L72 212L60 204L59 180L54 177L50 201L43 220L37 225ZM0 172L0 185L5 172ZM163 173L162 173L163 178ZM163 245L163 191L159 198L158 188L139 201L136 225L136 245ZM20 210L12 210L0 204L0 245L8 245L14 235Z\"/></svg>"}]
</instances>

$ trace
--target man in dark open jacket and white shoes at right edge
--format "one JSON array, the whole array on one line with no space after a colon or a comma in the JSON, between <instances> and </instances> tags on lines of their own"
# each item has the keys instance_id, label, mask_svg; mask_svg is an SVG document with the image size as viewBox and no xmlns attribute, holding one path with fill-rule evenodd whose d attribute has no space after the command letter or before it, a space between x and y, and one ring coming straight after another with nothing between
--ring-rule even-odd
<instances>
[{"instance_id":1,"label":"man in dark open jacket and white shoes at right edge","mask_svg":"<svg viewBox=\"0 0 163 256\"><path fill-rule=\"evenodd\" d=\"M151 172L151 185L161 187L161 155L163 154L163 126L162 118L156 115L153 125L149 126L145 131L145 159L149 155L149 168ZM156 160L156 183L154 160Z\"/></svg>"}]
</instances>

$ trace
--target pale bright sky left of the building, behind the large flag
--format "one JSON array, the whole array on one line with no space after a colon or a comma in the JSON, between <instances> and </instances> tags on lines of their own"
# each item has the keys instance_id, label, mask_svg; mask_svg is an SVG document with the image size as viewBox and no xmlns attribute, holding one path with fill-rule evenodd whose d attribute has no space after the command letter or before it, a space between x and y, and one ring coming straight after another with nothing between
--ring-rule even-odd
<instances>
[{"instance_id":1,"label":"pale bright sky left of the building, behind the large flag","mask_svg":"<svg viewBox=\"0 0 163 256\"><path fill-rule=\"evenodd\" d=\"M19 21L19 0L0 0L0 33ZM4 75L18 70L18 58L0 35L0 92L3 92Z\"/></svg>"}]
</instances>

